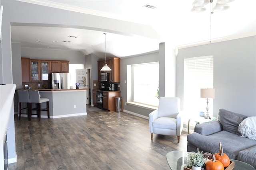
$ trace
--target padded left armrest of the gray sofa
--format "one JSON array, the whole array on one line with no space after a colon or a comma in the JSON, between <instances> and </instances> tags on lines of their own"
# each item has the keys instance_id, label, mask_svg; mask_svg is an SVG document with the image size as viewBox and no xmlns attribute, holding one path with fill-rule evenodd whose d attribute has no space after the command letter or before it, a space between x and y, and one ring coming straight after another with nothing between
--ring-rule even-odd
<instances>
[{"instance_id":1,"label":"padded left armrest of the gray sofa","mask_svg":"<svg viewBox=\"0 0 256 170\"><path fill-rule=\"evenodd\" d=\"M211 135L222 130L223 128L219 121L210 121L195 126L195 132L201 135Z\"/></svg>"}]
</instances>

